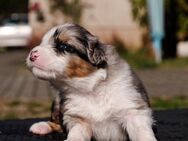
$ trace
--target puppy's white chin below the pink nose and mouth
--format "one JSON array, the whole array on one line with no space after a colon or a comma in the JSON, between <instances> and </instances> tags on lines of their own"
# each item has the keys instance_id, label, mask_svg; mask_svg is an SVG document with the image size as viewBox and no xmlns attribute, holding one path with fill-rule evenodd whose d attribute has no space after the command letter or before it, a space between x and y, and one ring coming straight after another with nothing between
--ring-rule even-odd
<instances>
[{"instance_id":1,"label":"puppy's white chin below the pink nose and mouth","mask_svg":"<svg viewBox=\"0 0 188 141\"><path fill-rule=\"evenodd\" d=\"M56 74L53 71L46 71L38 67L32 67L31 71L37 78L42 80L56 79Z\"/></svg>"}]
</instances>

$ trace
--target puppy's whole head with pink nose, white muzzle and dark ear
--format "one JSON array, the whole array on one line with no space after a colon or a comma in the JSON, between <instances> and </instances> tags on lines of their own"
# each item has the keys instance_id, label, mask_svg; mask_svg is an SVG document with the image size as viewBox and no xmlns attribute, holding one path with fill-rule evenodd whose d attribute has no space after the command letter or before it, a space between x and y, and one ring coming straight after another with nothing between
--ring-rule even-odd
<instances>
[{"instance_id":1,"label":"puppy's whole head with pink nose, white muzzle and dark ear","mask_svg":"<svg viewBox=\"0 0 188 141\"><path fill-rule=\"evenodd\" d=\"M86 77L107 66L102 44L86 29L65 24L48 31L27 57L27 66L41 79Z\"/></svg>"}]
</instances>

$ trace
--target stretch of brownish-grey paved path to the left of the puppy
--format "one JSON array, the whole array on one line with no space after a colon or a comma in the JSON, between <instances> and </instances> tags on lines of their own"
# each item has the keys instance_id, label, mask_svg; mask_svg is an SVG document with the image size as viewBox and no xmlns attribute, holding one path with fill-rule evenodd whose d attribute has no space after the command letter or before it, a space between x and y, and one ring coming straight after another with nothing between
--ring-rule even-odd
<instances>
[{"instance_id":1,"label":"stretch of brownish-grey paved path to the left of the puppy","mask_svg":"<svg viewBox=\"0 0 188 141\"><path fill-rule=\"evenodd\" d=\"M46 81L36 79L27 70L25 50L0 53L1 99L49 99L55 91Z\"/></svg>"}]
</instances>

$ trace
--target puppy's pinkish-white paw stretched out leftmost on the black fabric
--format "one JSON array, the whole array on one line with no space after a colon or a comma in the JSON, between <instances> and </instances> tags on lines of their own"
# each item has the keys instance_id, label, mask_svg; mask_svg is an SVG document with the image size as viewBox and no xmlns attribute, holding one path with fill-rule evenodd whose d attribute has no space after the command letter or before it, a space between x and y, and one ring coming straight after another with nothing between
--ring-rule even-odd
<instances>
[{"instance_id":1,"label":"puppy's pinkish-white paw stretched out leftmost on the black fabric","mask_svg":"<svg viewBox=\"0 0 188 141\"><path fill-rule=\"evenodd\" d=\"M30 127L29 131L34 133L34 134L45 135L45 134L51 133L52 128L50 127L48 122L43 121L43 122L34 123Z\"/></svg>"}]
</instances>

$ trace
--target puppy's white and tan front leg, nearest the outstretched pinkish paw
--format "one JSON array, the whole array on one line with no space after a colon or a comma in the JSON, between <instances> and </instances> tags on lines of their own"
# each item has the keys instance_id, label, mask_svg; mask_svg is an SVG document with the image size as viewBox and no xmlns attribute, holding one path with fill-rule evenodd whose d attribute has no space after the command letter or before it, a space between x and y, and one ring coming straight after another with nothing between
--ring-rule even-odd
<instances>
[{"instance_id":1,"label":"puppy's white and tan front leg, nearest the outstretched pinkish paw","mask_svg":"<svg viewBox=\"0 0 188 141\"><path fill-rule=\"evenodd\" d=\"M72 127L71 127L72 126ZM66 141L90 141L92 137L92 131L90 126L81 121L81 122L69 122L67 125L69 130L68 137Z\"/></svg>"}]
</instances>

